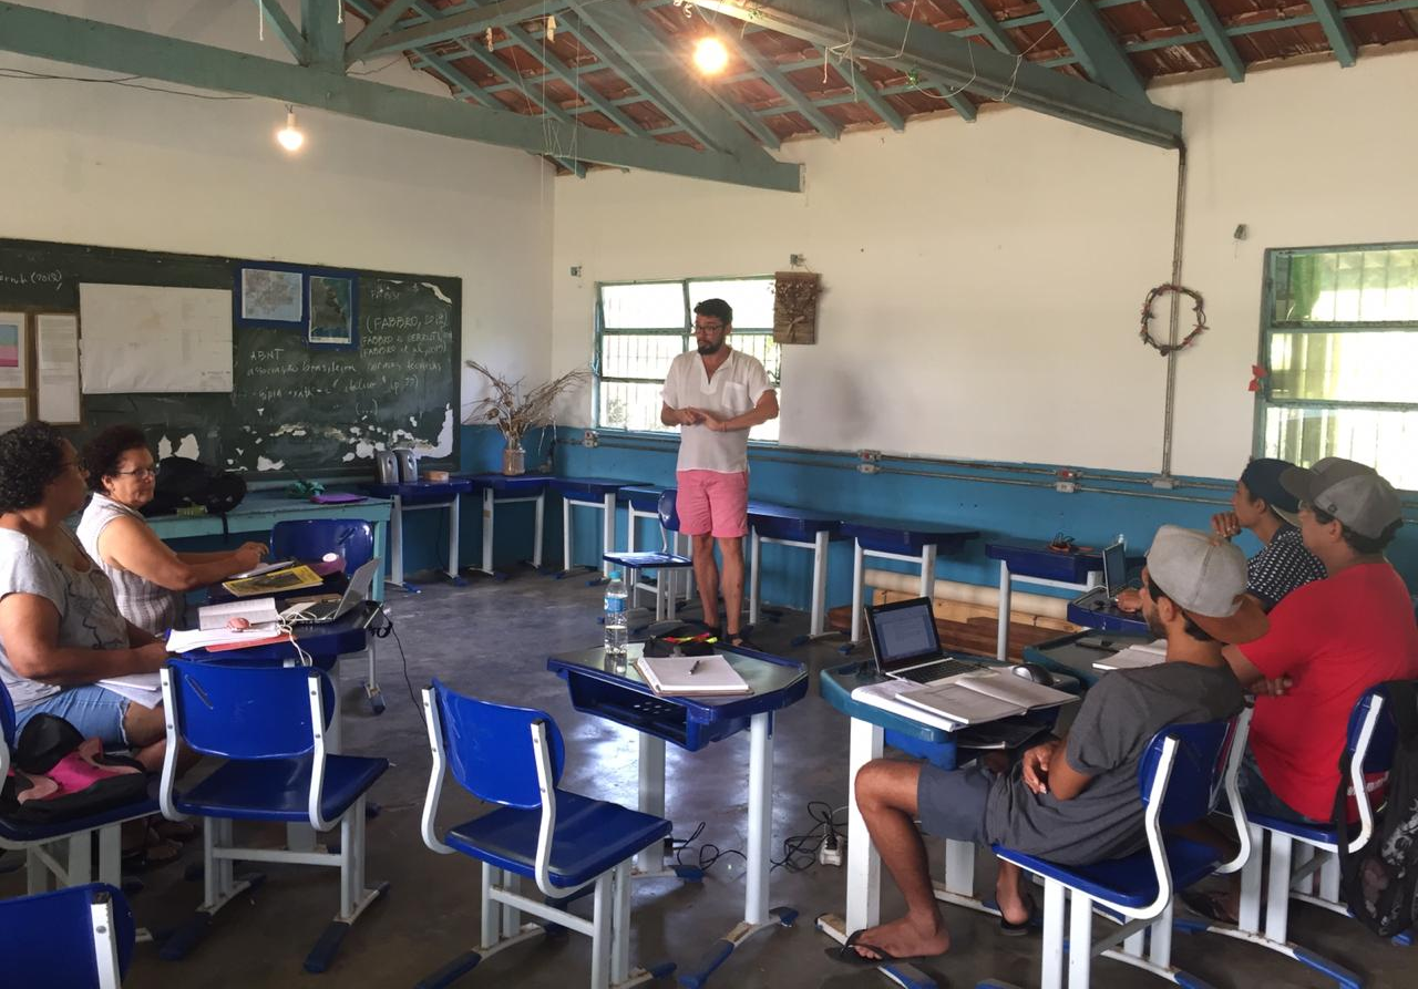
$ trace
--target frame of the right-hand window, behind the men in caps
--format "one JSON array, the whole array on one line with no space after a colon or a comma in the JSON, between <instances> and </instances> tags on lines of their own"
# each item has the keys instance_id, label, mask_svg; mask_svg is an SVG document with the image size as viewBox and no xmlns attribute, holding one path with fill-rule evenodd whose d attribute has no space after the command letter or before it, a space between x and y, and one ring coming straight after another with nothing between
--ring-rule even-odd
<instances>
[{"instance_id":1,"label":"frame of the right-hand window, behind the men in caps","mask_svg":"<svg viewBox=\"0 0 1418 989\"><path fill-rule=\"evenodd\" d=\"M1418 402L1384 402L1384 401L1344 401L1334 398L1273 398L1271 394L1271 383L1273 380L1271 368L1271 351L1272 343L1276 333L1283 334L1305 334L1305 333L1324 333L1324 334L1340 334L1340 333L1383 333L1383 332L1404 332L1418 334L1418 319L1411 320L1371 320L1371 322L1344 322L1336 320L1332 323L1306 323L1305 320L1280 320L1276 319L1276 285L1279 282L1276 271L1280 258L1293 258L1314 254L1354 254L1363 251L1418 251L1418 241L1391 241L1391 242L1373 242L1373 244L1327 244L1316 247L1295 247L1295 248L1266 248L1262 268L1263 275L1261 279L1261 343L1256 353L1256 367L1263 368L1265 374L1261 375L1261 387L1255 392L1255 412L1252 419L1252 443L1251 449L1255 456L1269 456L1265 445L1265 422L1266 412L1271 408L1297 408L1297 409L1371 409L1380 412L1418 412ZM1418 288L1418 286L1415 286Z\"/></svg>"}]
</instances>

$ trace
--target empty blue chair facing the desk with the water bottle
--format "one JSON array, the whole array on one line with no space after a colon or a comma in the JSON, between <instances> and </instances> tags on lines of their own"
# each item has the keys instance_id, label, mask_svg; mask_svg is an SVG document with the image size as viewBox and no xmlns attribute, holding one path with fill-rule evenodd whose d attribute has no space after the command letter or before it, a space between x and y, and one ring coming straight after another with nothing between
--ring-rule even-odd
<instances>
[{"instance_id":1,"label":"empty blue chair facing the desk with the water bottle","mask_svg":"<svg viewBox=\"0 0 1418 989\"><path fill-rule=\"evenodd\" d=\"M418 989L441 989L493 952L539 934L543 925L523 925L522 911L590 935L591 989L638 985L674 971L674 965L630 971L631 860L668 837L669 822L559 789L566 745L546 711L464 697L434 680L424 690L424 716L434 752L424 844L482 861L482 939ZM435 818L445 769L498 808L454 825L440 839ZM522 895L523 877L554 903ZM560 908L587 887L590 921Z\"/></svg>"}]
</instances>

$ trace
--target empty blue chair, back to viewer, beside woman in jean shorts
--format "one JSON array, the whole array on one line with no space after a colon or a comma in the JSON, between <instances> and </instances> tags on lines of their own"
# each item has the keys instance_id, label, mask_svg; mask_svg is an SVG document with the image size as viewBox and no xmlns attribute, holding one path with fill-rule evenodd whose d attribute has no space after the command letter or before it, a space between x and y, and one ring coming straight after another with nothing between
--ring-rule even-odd
<instances>
[{"instance_id":1,"label":"empty blue chair, back to viewer, beside woman in jean shorts","mask_svg":"<svg viewBox=\"0 0 1418 989\"><path fill-rule=\"evenodd\" d=\"M305 959L323 972L354 920L389 890L364 887L364 801L387 759L328 755L325 734L335 691L320 670L292 666L221 666L174 659L163 669L167 758L159 799L163 815L203 818L206 895L193 920L169 938L162 956L184 958L213 915L262 876L237 880L233 861L291 861L337 867L340 908ZM190 789L176 785L182 745L227 759ZM233 822L339 825L339 852L286 852L235 844Z\"/></svg>"}]
</instances>

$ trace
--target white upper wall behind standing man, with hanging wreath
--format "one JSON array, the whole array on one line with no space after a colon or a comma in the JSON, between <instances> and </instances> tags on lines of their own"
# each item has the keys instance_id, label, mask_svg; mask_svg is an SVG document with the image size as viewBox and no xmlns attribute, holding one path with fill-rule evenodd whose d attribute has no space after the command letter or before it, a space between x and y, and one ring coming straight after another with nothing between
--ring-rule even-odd
<instances>
[{"instance_id":1,"label":"white upper wall behind standing man, with hanging wreath","mask_svg":"<svg viewBox=\"0 0 1418 989\"><path fill-rule=\"evenodd\" d=\"M1183 281L1212 327L1180 358L1176 472L1234 476L1249 453L1265 248L1418 237L1418 129L1394 102L1415 89L1418 57L1366 52L1151 94L1185 115ZM1137 317L1170 281L1176 153L1010 108L781 157L807 164L805 193L557 181L553 370L590 356L597 281L767 273L798 252L825 295L818 343L784 354L784 443L1159 469L1166 361Z\"/></svg>"}]
</instances>

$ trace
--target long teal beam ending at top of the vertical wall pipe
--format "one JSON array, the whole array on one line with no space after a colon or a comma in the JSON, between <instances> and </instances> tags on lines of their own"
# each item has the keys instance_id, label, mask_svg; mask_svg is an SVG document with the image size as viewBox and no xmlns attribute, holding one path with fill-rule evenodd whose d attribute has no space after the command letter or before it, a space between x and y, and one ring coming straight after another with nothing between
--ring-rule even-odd
<instances>
[{"instance_id":1,"label":"long teal beam ending at top of the vertical wall pipe","mask_svg":"<svg viewBox=\"0 0 1418 989\"><path fill-rule=\"evenodd\" d=\"M939 84L968 86L991 99L1088 128L1160 147L1176 147L1181 142L1181 113L1176 111L1119 96L1098 84L1028 61L1020 62L993 48L925 26L913 27L906 35L902 31L905 18L873 6L859 4L854 9L852 24L845 24L825 21L822 4L811 0L776 0L771 7L754 6L752 10L735 0L696 3L815 45L851 44L858 57L882 60L908 71L919 69Z\"/></svg>"}]
</instances>

